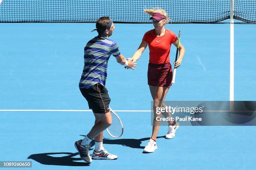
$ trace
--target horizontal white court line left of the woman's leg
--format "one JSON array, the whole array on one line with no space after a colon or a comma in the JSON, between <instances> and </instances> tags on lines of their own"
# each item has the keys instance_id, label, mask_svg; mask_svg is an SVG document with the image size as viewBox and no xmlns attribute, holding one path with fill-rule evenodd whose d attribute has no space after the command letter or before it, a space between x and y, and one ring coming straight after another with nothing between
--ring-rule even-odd
<instances>
[{"instance_id":1,"label":"horizontal white court line left of the woman's leg","mask_svg":"<svg viewBox=\"0 0 256 170\"><path fill-rule=\"evenodd\" d=\"M115 112L151 112L151 110L113 110ZM0 112L92 112L92 110L39 110L39 109L1 109Z\"/></svg>"}]
</instances>

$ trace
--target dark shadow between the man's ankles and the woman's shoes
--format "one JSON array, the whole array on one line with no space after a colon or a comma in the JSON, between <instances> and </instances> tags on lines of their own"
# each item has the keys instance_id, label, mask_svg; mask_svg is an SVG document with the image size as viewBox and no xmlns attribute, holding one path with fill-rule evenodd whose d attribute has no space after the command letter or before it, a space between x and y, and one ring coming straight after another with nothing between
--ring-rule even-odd
<instances>
[{"instance_id":1,"label":"dark shadow between the man's ankles and the woman's shoes","mask_svg":"<svg viewBox=\"0 0 256 170\"><path fill-rule=\"evenodd\" d=\"M81 135L85 136L85 135ZM158 136L157 138L165 138L165 136ZM130 148L137 148L137 149L144 149L145 146L141 146L141 142L145 140L149 140L150 138L141 138L141 139L108 139L104 138L104 144L110 145L123 145ZM92 141L91 145L95 145L94 140Z\"/></svg>"}]
</instances>

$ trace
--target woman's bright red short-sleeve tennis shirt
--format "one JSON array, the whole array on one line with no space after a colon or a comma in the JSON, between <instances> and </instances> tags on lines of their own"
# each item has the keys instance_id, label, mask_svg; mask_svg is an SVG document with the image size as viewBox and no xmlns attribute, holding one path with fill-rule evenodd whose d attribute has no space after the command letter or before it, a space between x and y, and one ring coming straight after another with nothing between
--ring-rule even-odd
<instances>
[{"instance_id":1,"label":"woman's bright red short-sleeve tennis shirt","mask_svg":"<svg viewBox=\"0 0 256 170\"><path fill-rule=\"evenodd\" d=\"M145 33L143 40L148 42L149 62L164 64L170 62L171 45L178 39L174 32L165 29L163 36L159 37L154 30Z\"/></svg>"}]
</instances>

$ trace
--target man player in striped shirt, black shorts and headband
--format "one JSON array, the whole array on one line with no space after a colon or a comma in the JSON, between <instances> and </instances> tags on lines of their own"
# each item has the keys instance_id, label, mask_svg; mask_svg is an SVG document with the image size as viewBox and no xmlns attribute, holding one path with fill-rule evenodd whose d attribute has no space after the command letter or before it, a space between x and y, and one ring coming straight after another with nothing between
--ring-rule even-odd
<instances>
[{"instance_id":1,"label":"man player in striped shirt, black shorts and headband","mask_svg":"<svg viewBox=\"0 0 256 170\"><path fill-rule=\"evenodd\" d=\"M110 97L105 87L110 55L113 55L119 64L133 70L133 67L137 65L132 60L127 61L121 55L116 42L109 39L114 29L114 23L109 17L99 18L95 29L99 35L87 42L84 47L84 69L79 89L94 113L95 125L83 140L78 140L74 145L82 160L87 163L91 163L92 159L115 160L118 158L116 155L108 153L102 143L103 131L112 123L108 107ZM93 139L95 139L95 150L91 157L89 148Z\"/></svg>"}]
</instances>

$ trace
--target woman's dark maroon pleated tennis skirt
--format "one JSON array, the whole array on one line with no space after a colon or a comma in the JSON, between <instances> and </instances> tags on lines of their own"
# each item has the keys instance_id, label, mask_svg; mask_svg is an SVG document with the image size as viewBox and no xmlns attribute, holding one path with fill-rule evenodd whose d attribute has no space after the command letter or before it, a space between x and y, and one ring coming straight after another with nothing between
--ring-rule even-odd
<instances>
[{"instance_id":1,"label":"woman's dark maroon pleated tennis skirt","mask_svg":"<svg viewBox=\"0 0 256 170\"><path fill-rule=\"evenodd\" d=\"M170 87L172 85L172 65L148 63L148 85Z\"/></svg>"}]
</instances>

